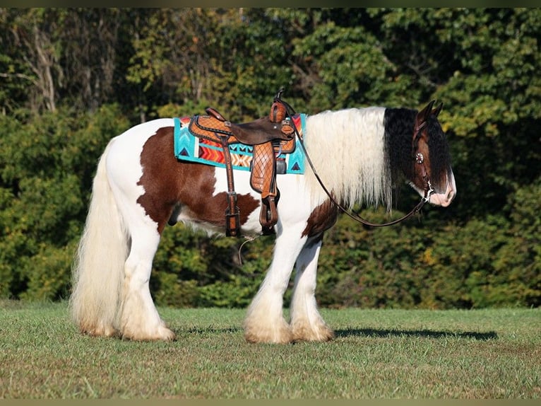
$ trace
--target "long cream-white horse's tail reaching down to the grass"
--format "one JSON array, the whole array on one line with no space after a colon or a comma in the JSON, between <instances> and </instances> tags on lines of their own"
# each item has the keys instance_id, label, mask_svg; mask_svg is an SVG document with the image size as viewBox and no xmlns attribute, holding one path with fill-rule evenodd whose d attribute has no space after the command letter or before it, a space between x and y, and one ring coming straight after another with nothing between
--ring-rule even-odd
<instances>
[{"instance_id":1,"label":"long cream-white horse's tail reaching down to the grass","mask_svg":"<svg viewBox=\"0 0 541 406\"><path fill-rule=\"evenodd\" d=\"M73 263L70 310L81 332L114 335L118 328L129 239L107 179L107 153L99 163L81 241Z\"/></svg>"}]
</instances>

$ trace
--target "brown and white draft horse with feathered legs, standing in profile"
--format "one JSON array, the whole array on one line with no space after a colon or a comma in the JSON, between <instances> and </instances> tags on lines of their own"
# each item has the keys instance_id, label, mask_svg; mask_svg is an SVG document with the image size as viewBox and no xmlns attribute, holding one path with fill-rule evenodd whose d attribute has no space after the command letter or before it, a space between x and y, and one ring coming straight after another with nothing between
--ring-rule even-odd
<instances>
[{"instance_id":1,"label":"brown and white draft horse with feathered legs, standing in profile","mask_svg":"<svg viewBox=\"0 0 541 406\"><path fill-rule=\"evenodd\" d=\"M278 175L273 257L246 310L246 342L333 339L316 304L316 272L323 233L340 208L369 204L390 211L403 182L429 204L451 204L456 182L440 111L433 100L420 111L371 106L306 115L302 146L313 167ZM69 299L83 334L175 339L149 289L160 236L178 222L223 235L228 185L225 168L180 161L173 149L174 118L157 118L112 138L99 158ZM249 172L234 170L234 180L240 233L257 236L259 195ZM283 295L294 268L286 320Z\"/></svg>"}]
</instances>

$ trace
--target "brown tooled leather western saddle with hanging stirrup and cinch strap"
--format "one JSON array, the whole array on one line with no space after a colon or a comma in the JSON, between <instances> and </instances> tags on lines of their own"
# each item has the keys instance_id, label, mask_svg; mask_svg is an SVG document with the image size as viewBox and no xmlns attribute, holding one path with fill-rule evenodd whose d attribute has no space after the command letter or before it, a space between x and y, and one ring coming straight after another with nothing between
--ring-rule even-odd
<instances>
[{"instance_id":1,"label":"brown tooled leather western saddle with hanging stirrup and cinch strap","mask_svg":"<svg viewBox=\"0 0 541 406\"><path fill-rule=\"evenodd\" d=\"M189 131L196 137L215 141L222 145L225 169L227 173L227 208L225 209L225 235L240 235L239 207L237 193L234 191L233 168L230 144L252 146L251 187L261 194L261 212L259 223L262 233L274 233L278 221L278 199L280 191L276 185L276 174L285 173L278 167L276 156L280 153L295 151L295 124L291 115L295 111L281 100L283 88L275 95L268 117L261 117L252 122L235 124L215 109L206 108L207 115L195 115L189 123Z\"/></svg>"}]
</instances>

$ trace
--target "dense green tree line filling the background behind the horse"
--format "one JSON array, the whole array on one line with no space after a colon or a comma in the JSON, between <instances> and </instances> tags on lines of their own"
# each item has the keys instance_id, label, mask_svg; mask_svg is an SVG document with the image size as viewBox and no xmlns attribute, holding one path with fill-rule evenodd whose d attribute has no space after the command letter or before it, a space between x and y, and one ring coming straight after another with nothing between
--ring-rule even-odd
<instances>
[{"instance_id":1,"label":"dense green tree line filling the background behind the horse","mask_svg":"<svg viewBox=\"0 0 541 406\"><path fill-rule=\"evenodd\" d=\"M69 296L109 139L209 105L254 120L283 86L308 114L442 101L458 186L398 226L340 217L320 306L539 306L540 30L537 8L0 8L0 297ZM273 238L241 243L167 228L157 303L246 306Z\"/></svg>"}]
</instances>

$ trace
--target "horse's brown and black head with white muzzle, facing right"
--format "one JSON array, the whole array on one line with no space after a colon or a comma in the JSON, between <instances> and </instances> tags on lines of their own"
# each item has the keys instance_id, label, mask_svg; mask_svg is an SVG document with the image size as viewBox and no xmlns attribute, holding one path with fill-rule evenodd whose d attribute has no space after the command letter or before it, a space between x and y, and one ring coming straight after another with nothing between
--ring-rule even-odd
<instances>
[{"instance_id":1,"label":"horse's brown and black head with white muzzle, facing right","mask_svg":"<svg viewBox=\"0 0 541 406\"><path fill-rule=\"evenodd\" d=\"M451 169L445 133L438 115L443 103L434 106L432 100L417 113L412 138L412 176L410 185L437 206L447 207L456 196L456 184Z\"/></svg>"}]
</instances>

